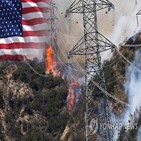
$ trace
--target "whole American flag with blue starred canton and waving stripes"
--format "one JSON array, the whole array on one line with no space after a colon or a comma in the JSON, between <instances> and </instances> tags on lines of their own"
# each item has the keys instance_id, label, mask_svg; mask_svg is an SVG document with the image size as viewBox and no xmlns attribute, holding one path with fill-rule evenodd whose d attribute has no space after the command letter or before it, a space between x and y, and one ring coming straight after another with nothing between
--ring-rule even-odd
<instances>
[{"instance_id":1,"label":"whole American flag with blue starred canton and waving stripes","mask_svg":"<svg viewBox=\"0 0 141 141\"><path fill-rule=\"evenodd\" d=\"M0 0L0 60L38 56L49 36L49 0Z\"/></svg>"}]
</instances>

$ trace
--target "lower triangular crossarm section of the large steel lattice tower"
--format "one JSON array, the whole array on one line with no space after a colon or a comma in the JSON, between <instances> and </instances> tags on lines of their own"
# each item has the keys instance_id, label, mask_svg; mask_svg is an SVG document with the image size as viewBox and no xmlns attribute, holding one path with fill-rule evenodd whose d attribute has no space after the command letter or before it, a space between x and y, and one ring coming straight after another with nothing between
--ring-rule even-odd
<instances>
[{"instance_id":1,"label":"lower triangular crossarm section of the large steel lattice tower","mask_svg":"<svg viewBox=\"0 0 141 141\"><path fill-rule=\"evenodd\" d=\"M113 51L115 49L115 45L98 31L97 33L98 33L97 41L99 42L99 47L100 47L99 52L104 52L107 50ZM87 50L87 55L90 55L92 53L96 54L97 44L95 41L96 37L94 35L95 34L93 32L87 33L87 37L88 37L87 39L85 38L86 35L84 35L78 41L78 43L70 50L68 58L72 57L73 55L86 55L86 50ZM85 42L89 43L88 48L85 46Z\"/></svg>"}]
</instances>

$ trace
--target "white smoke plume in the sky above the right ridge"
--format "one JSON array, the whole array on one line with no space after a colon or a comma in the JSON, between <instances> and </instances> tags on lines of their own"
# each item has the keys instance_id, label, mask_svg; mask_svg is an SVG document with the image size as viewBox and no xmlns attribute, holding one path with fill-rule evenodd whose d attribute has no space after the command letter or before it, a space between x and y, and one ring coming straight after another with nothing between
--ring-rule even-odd
<instances>
[{"instance_id":1,"label":"white smoke plume in the sky above the right ridge","mask_svg":"<svg viewBox=\"0 0 141 141\"><path fill-rule=\"evenodd\" d=\"M140 10L139 5L133 5L132 10L127 13L121 14L109 35L109 39L115 44L119 45L124 40L131 37L133 34L138 33L141 26L137 25L136 14Z\"/></svg>"}]
</instances>

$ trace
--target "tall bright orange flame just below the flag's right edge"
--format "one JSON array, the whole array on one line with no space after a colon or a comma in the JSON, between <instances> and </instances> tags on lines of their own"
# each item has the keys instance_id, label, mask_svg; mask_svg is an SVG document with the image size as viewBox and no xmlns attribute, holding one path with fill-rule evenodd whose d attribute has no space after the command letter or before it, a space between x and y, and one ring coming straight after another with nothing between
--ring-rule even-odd
<instances>
[{"instance_id":1,"label":"tall bright orange flame just below the flag's right edge","mask_svg":"<svg viewBox=\"0 0 141 141\"><path fill-rule=\"evenodd\" d=\"M53 58L52 46L49 45L46 49L46 73L53 73L54 76L58 76L59 73L55 68L56 62Z\"/></svg>"}]
</instances>

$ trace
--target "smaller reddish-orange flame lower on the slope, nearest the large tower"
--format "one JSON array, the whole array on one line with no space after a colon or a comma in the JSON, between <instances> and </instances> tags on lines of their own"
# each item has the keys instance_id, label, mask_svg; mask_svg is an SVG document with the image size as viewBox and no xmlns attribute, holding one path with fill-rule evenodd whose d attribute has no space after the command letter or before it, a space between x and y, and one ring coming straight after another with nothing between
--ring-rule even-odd
<instances>
[{"instance_id":1,"label":"smaller reddish-orange flame lower on the slope, nearest the large tower","mask_svg":"<svg viewBox=\"0 0 141 141\"><path fill-rule=\"evenodd\" d=\"M68 91L68 110L72 112L75 106L75 93L74 88L78 85L77 81L75 80L73 83L69 84L69 91Z\"/></svg>"}]
</instances>

